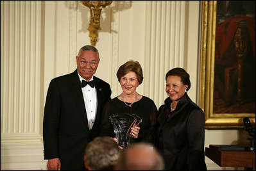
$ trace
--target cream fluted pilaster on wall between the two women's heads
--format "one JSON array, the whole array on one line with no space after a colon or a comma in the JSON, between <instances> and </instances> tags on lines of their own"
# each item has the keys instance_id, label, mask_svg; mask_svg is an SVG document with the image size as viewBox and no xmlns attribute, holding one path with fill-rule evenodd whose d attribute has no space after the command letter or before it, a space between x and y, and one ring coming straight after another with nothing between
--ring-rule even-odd
<instances>
[{"instance_id":1,"label":"cream fluted pilaster on wall between the two women's heads","mask_svg":"<svg viewBox=\"0 0 256 171\"><path fill-rule=\"evenodd\" d=\"M183 67L185 1L146 1L144 93L160 106L166 98L165 74Z\"/></svg>"}]
</instances>

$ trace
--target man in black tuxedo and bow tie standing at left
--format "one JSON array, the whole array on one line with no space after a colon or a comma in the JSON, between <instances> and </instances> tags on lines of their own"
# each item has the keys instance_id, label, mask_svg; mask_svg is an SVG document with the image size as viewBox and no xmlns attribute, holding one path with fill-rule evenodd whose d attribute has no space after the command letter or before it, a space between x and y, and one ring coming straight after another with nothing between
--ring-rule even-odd
<instances>
[{"instance_id":1,"label":"man in black tuxedo and bow tie standing at left","mask_svg":"<svg viewBox=\"0 0 256 171\"><path fill-rule=\"evenodd\" d=\"M51 80L44 108L44 159L48 170L85 170L87 143L99 136L101 113L109 101L110 85L93 76L98 50L81 47L73 73Z\"/></svg>"}]
</instances>

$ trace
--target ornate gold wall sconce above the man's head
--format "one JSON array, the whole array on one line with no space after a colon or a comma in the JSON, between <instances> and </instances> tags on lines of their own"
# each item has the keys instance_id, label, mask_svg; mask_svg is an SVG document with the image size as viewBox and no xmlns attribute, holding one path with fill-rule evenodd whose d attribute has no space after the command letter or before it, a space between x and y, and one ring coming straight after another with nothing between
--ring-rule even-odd
<instances>
[{"instance_id":1,"label":"ornate gold wall sconce above the man's head","mask_svg":"<svg viewBox=\"0 0 256 171\"><path fill-rule=\"evenodd\" d=\"M112 1L80 1L81 4L90 8L90 23L89 28L87 28L90 33L89 37L90 44L95 46L98 38L98 30L101 29L99 26L99 19L101 16L102 8L110 5Z\"/></svg>"}]
</instances>

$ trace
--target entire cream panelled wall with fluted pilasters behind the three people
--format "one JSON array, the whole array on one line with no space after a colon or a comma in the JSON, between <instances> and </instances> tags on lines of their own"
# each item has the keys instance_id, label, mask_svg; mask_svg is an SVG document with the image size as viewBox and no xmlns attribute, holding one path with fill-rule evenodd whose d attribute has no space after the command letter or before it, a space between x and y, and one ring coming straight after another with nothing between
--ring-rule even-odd
<instances>
[{"instance_id":1,"label":"entire cream panelled wall with fluted pilasters behind the three people","mask_svg":"<svg viewBox=\"0 0 256 171\"><path fill-rule=\"evenodd\" d=\"M76 69L76 53L90 44L89 8L79 1L1 1L1 170L46 170L42 117L53 77ZM101 13L96 76L121 93L115 76L124 62L141 63L140 94L159 107L164 76L173 67L191 75L198 102L200 1L113 1ZM205 130L211 143L239 142L241 131ZM220 168L206 157L209 170Z\"/></svg>"}]
</instances>

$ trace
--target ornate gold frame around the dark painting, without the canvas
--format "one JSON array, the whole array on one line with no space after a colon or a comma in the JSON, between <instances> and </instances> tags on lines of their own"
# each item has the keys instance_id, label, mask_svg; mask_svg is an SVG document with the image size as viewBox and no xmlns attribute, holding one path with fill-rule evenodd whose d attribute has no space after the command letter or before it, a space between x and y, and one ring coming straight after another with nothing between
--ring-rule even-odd
<instances>
[{"instance_id":1,"label":"ornate gold frame around the dark painting, without the canvas","mask_svg":"<svg viewBox=\"0 0 256 171\"><path fill-rule=\"evenodd\" d=\"M255 127L255 113L214 113L216 15L217 1L202 1L199 104L205 113L205 128L242 128L244 117L250 118Z\"/></svg>"}]
</instances>

